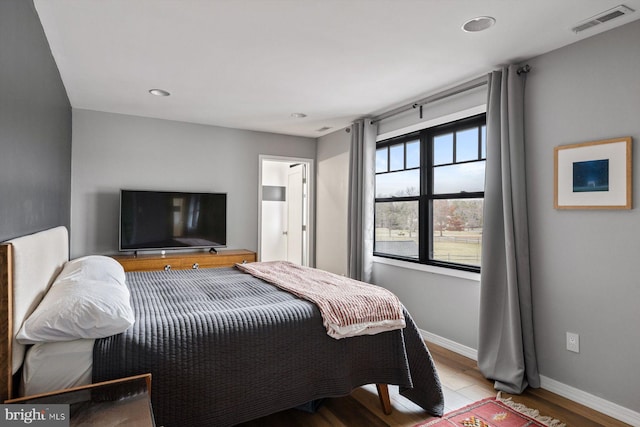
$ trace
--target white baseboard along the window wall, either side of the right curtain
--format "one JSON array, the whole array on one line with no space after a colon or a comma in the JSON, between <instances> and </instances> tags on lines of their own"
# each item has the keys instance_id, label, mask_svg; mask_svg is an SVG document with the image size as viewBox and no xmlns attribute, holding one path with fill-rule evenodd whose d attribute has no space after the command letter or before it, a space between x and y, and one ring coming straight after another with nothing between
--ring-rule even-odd
<instances>
[{"instance_id":1,"label":"white baseboard along the window wall, either side of the right curtain","mask_svg":"<svg viewBox=\"0 0 640 427\"><path fill-rule=\"evenodd\" d=\"M478 360L478 351L474 348L464 346L423 329L420 329L420 333L422 334L422 338L429 342L461 354L469 359ZM601 397L594 396L593 394L571 387L552 378L545 377L544 375L540 375L540 387L612 418L631 424L632 426L640 426L640 413L616 403L609 402Z\"/></svg>"}]
</instances>

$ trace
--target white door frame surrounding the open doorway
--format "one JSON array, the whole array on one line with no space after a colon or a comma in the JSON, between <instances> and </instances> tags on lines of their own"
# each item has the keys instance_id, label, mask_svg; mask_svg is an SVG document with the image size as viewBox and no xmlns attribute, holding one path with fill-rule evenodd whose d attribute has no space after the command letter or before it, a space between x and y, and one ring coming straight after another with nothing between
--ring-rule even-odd
<instances>
[{"instance_id":1,"label":"white door frame surrounding the open doorway","mask_svg":"<svg viewBox=\"0 0 640 427\"><path fill-rule=\"evenodd\" d=\"M316 227L315 227L315 160L304 157L286 157L272 156L269 154L260 154L258 156L258 250L257 258L261 261L262 251L262 164L265 161L281 162L281 163L304 163L307 165L307 260L309 267L316 265Z\"/></svg>"}]
</instances>

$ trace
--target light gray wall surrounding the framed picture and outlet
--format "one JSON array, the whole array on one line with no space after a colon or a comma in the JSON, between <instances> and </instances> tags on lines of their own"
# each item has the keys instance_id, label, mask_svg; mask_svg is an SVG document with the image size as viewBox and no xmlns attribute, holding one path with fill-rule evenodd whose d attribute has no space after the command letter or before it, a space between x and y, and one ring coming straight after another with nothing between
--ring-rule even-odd
<instances>
[{"instance_id":1,"label":"light gray wall surrounding the framed picture and outlet","mask_svg":"<svg viewBox=\"0 0 640 427\"><path fill-rule=\"evenodd\" d=\"M640 412L640 21L529 61L526 144L543 375ZM635 208L553 209L553 148L631 136ZM565 332L580 334L580 353Z\"/></svg>"}]
</instances>

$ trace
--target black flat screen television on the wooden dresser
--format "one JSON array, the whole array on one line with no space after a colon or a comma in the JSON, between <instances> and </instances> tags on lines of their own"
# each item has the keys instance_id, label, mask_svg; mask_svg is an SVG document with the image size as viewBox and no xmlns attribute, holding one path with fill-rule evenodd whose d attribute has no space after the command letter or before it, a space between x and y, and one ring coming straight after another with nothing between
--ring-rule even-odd
<instances>
[{"instance_id":1,"label":"black flat screen television on the wooden dresser","mask_svg":"<svg viewBox=\"0 0 640 427\"><path fill-rule=\"evenodd\" d=\"M120 190L120 251L227 245L226 193Z\"/></svg>"}]
</instances>

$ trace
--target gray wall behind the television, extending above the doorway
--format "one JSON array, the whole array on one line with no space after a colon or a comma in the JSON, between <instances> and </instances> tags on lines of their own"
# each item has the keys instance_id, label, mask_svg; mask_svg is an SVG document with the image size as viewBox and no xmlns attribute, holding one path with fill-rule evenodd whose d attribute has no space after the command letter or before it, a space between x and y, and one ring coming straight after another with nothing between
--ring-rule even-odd
<instances>
[{"instance_id":1,"label":"gray wall behind the television, extending above the doorway","mask_svg":"<svg viewBox=\"0 0 640 427\"><path fill-rule=\"evenodd\" d=\"M258 156L315 159L316 140L73 110L71 256L118 249L119 190L226 192L227 246L258 248Z\"/></svg>"}]
</instances>

